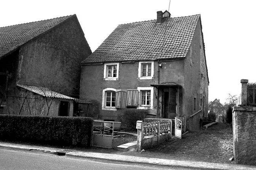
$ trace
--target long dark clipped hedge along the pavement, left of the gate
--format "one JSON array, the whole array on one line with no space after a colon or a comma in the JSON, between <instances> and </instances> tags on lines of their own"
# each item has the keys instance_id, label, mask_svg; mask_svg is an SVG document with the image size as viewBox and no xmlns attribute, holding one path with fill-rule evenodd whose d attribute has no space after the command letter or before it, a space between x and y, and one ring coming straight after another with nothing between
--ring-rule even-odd
<instances>
[{"instance_id":1,"label":"long dark clipped hedge along the pavement, left of the gate","mask_svg":"<svg viewBox=\"0 0 256 170\"><path fill-rule=\"evenodd\" d=\"M0 115L0 139L90 146L92 124L88 117Z\"/></svg>"}]
</instances>

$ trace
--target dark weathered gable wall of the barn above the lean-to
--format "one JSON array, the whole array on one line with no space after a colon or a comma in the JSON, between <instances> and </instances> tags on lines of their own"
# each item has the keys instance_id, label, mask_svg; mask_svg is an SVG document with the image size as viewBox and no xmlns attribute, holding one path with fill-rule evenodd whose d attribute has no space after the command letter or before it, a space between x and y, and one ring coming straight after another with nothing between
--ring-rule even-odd
<instances>
[{"instance_id":1,"label":"dark weathered gable wall of the barn above the lean-to","mask_svg":"<svg viewBox=\"0 0 256 170\"><path fill-rule=\"evenodd\" d=\"M71 17L21 47L17 82L43 83L78 98L80 63L90 54L77 18Z\"/></svg>"}]
</instances>

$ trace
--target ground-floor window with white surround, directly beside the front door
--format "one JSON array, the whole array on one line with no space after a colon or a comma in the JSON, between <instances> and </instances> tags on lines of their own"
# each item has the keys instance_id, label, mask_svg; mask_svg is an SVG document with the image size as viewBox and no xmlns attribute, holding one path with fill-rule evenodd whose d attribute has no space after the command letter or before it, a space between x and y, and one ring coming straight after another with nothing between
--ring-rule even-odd
<instances>
[{"instance_id":1,"label":"ground-floor window with white surround, directly beside the front door","mask_svg":"<svg viewBox=\"0 0 256 170\"><path fill-rule=\"evenodd\" d=\"M138 109L153 109L154 87L138 87L139 107Z\"/></svg>"}]
</instances>

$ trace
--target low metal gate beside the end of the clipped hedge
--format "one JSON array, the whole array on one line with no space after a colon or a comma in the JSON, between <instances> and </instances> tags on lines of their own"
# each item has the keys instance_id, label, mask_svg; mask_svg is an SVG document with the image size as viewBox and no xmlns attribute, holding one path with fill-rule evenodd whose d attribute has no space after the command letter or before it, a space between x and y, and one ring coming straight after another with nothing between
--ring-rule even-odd
<instances>
[{"instance_id":1,"label":"low metal gate beside the end of the clipped hedge","mask_svg":"<svg viewBox=\"0 0 256 170\"><path fill-rule=\"evenodd\" d=\"M114 122L93 121L93 146L113 148Z\"/></svg>"}]
</instances>

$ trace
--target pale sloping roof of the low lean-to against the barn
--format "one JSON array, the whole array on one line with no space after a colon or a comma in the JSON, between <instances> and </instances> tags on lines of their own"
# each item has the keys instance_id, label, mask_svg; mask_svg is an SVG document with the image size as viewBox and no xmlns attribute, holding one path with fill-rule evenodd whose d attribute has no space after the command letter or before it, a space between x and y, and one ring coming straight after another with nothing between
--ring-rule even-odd
<instances>
[{"instance_id":1,"label":"pale sloping roof of the low lean-to against the barn","mask_svg":"<svg viewBox=\"0 0 256 170\"><path fill-rule=\"evenodd\" d=\"M35 87L35 86L26 86L26 85L17 85L17 86L24 88L26 90L32 91L34 93L40 94L41 96L46 96L48 98L75 100L75 98L71 98L69 96L57 93L55 91L49 90L48 88L44 88L44 87Z\"/></svg>"}]
</instances>

